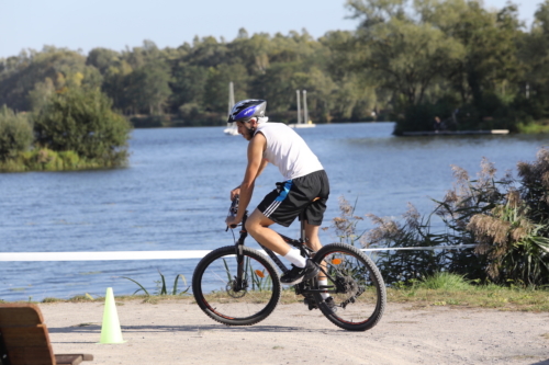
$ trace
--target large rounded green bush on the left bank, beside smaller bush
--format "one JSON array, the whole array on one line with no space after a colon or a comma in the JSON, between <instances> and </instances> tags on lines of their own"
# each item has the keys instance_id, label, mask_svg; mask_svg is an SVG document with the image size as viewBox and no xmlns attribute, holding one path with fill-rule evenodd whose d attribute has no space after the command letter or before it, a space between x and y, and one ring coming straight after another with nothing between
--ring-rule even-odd
<instances>
[{"instance_id":1,"label":"large rounded green bush on the left bank, beside smaller bush","mask_svg":"<svg viewBox=\"0 0 549 365\"><path fill-rule=\"evenodd\" d=\"M54 95L35 118L36 144L54 151L123 164L127 158L128 122L112 111L98 89L69 89Z\"/></svg>"}]
</instances>

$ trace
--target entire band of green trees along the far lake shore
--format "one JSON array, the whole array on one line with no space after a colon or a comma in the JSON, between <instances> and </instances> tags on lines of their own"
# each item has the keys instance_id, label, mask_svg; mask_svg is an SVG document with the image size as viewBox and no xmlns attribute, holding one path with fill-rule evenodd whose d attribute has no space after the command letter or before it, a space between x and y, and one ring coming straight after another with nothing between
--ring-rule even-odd
<instances>
[{"instance_id":1,"label":"entire band of green trees along the far lake shore","mask_svg":"<svg viewBox=\"0 0 549 365\"><path fill-rule=\"evenodd\" d=\"M0 60L0 105L40 110L66 89L100 87L143 126L223 124L233 82L237 100L267 99L271 118L287 123L298 117L295 90L307 91L317 123L390 119L395 133L430 129L435 116L453 129L534 130L528 123L549 121L549 0L528 31L513 3L488 10L475 0L347 0L346 7L356 31L318 39L305 30L240 28L232 42L197 36L177 48L144 41L87 57L30 49Z\"/></svg>"}]
</instances>

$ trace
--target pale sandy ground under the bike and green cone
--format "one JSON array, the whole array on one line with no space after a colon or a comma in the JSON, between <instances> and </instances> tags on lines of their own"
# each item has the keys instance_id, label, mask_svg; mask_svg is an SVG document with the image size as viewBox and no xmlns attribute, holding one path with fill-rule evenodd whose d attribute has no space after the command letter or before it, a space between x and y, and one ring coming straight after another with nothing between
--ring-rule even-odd
<instances>
[{"instance_id":1,"label":"pale sandy ground under the bike and green cone","mask_svg":"<svg viewBox=\"0 0 549 365\"><path fill-rule=\"evenodd\" d=\"M381 322L348 332L302 304L253 327L225 327L190 301L116 306L123 344L98 344L103 305L40 305L55 353L82 364L549 364L549 313L389 304ZM83 326L82 326L83 324Z\"/></svg>"}]
</instances>

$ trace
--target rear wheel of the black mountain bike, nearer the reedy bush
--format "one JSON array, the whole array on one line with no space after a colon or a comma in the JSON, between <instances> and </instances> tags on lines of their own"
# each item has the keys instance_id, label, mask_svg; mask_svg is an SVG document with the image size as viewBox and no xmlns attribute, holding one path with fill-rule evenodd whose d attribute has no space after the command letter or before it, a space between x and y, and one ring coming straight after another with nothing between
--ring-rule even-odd
<instances>
[{"instance_id":1,"label":"rear wheel of the black mountain bike, nearer the reedy bush","mask_svg":"<svg viewBox=\"0 0 549 365\"><path fill-rule=\"evenodd\" d=\"M315 293L318 308L334 324L349 331L366 331L374 327L385 309L383 278L363 252L345 243L323 247L313 258L328 274L330 306ZM321 287L322 289L323 287ZM332 307L332 308L330 308Z\"/></svg>"}]
</instances>

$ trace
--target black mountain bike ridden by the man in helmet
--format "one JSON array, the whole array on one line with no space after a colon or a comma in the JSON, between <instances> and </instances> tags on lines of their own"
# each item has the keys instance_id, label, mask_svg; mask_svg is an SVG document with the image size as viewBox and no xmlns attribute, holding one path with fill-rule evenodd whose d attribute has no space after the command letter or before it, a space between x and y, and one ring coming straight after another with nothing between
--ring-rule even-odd
<instances>
[{"instance_id":1,"label":"black mountain bike ridden by the man in helmet","mask_svg":"<svg viewBox=\"0 0 549 365\"><path fill-rule=\"evenodd\" d=\"M229 213L236 214L237 207L238 198L235 198ZM246 212L235 244L206 254L192 276L192 290L199 307L212 319L227 326L250 326L266 319L281 296L276 266L282 273L289 271L266 247L259 244L266 252L264 254L244 244L248 236L245 228L247 216ZM310 310L320 309L329 321L345 330L371 329L380 321L386 301L378 267L362 251L346 243L326 244L314 252L305 244L303 218L300 217L300 239L279 233L320 269L316 277L293 286L295 294L304 297ZM318 276L326 276L327 285L318 285ZM333 299L324 300L322 293Z\"/></svg>"}]
</instances>

